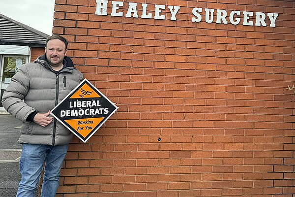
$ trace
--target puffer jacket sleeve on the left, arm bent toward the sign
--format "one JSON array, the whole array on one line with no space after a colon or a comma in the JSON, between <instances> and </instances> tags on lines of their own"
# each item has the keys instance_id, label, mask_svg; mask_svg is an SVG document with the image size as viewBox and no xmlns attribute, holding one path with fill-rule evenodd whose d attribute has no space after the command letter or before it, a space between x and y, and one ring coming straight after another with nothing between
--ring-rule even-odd
<instances>
[{"instance_id":1,"label":"puffer jacket sleeve on the left, arm bent toward the sign","mask_svg":"<svg viewBox=\"0 0 295 197\"><path fill-rule=\"evenodd\" d=\"M28 106L23 99L29 91L29 73L26 65L12 77L10 84L2 96L3 107L15 118L25 122L29 114L36 111Z\"/></svg>"}]
</instances>

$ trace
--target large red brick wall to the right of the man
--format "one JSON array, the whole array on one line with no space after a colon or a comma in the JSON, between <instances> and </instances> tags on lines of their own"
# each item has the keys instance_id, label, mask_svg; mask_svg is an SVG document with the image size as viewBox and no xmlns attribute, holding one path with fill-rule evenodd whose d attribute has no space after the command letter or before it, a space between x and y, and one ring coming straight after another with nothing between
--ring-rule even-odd
<instances>
[{"instance_id":1,"label":"large red brick wall to the right of the man","mask_svg":"<svg viewBox=\"0 0 295 197\"><path fill-rule=\"evenodd\" d=\"M99 16L95 0L56 0L53 32L119 106L87 143L74 137L58 196L294 197L295 2L130 1L181 9L177 21L126 18L111 1ZM193 23L193 7L279 17Z\"/></svg>"}]
</instances>

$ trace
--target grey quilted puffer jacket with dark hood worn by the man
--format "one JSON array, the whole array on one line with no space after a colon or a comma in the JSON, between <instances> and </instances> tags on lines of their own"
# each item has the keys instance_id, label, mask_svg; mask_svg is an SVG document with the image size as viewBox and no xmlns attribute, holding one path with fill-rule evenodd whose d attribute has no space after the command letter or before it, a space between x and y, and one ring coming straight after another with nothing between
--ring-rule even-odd
<instances>
[{"instance_id":1,"label":"grey quilted puffer jacket with dark hood worn by the man","mask_svg":"<svg viewBox=\"0 0 295 197\"><path fill-rule=\"evenodd\" d=\"M71 141L73 133L56 119L46 127L26 121L31 113L52 110L83 80L70 58L65 57L63 65L66 66L55 73L46 57L40 56L33 63L22 65L4 91L4 108L23 122L19 143L64 145Z\"/></svg>"}]
</instances>

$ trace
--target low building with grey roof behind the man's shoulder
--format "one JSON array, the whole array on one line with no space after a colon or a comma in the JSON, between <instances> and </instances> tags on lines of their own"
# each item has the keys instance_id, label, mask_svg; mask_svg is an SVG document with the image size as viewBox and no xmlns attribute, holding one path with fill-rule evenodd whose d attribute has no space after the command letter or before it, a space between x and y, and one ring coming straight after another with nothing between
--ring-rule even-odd
<instances>
[{"instance_id":1,"label":"low building with grey roof behind the man's shoulder","mask_svg":"<svg viewBox=\"0 0 295 197\"><path fill-rule=\"evenodd\" d=\"M44 54L45 40L48 36L0 14L1 97L18 67ZM0 111L5 111L1 102Z\"/></svg>"}]
</instances>

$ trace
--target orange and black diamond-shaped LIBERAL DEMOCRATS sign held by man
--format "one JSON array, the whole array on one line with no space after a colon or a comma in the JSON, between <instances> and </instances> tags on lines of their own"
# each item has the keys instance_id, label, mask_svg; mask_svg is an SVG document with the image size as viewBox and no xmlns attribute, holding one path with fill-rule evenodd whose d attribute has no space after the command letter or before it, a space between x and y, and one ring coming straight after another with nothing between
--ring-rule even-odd
<instances>
[{"instance_id":1,"label":"orange and black diamond-shaped LIBERAL DEMOCRATS sign held by man","mask_svg":"<svg viewBox=\"0 0 295 197\"><path fill-rule=\"evenodd\" d=\"M84 79L51 110L51 114L83 142L87 142L117 109L111 100Z\"/></svg>"}]
</instances>

